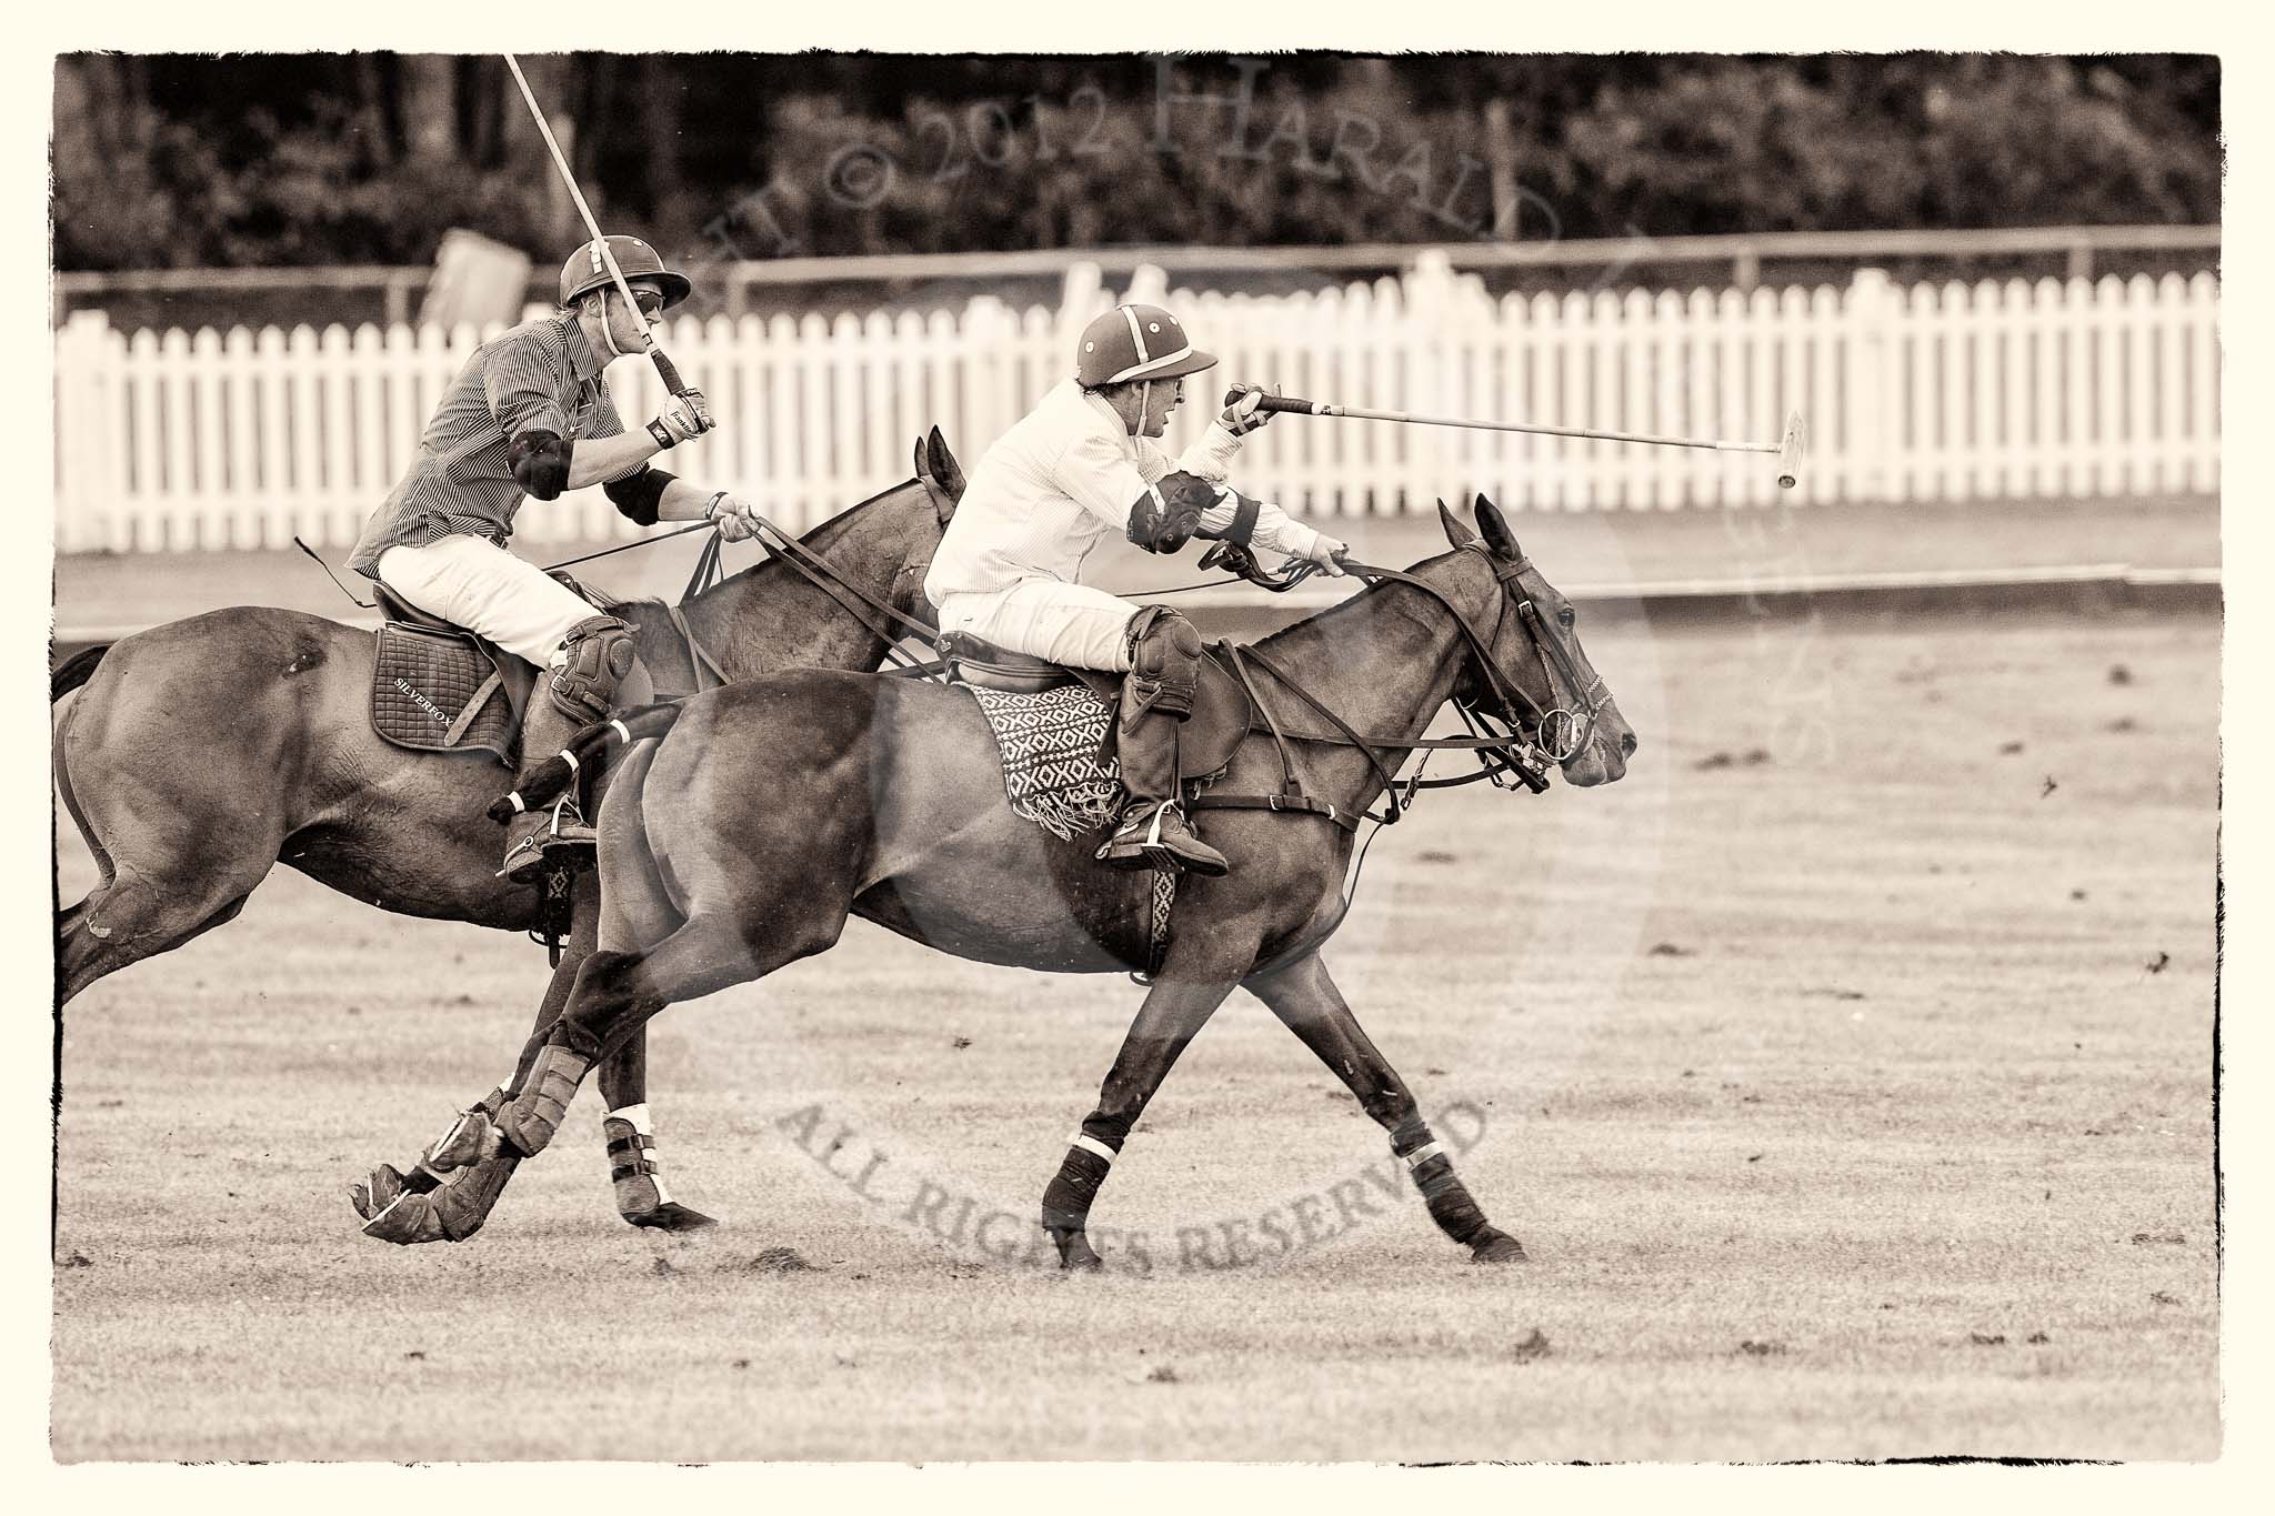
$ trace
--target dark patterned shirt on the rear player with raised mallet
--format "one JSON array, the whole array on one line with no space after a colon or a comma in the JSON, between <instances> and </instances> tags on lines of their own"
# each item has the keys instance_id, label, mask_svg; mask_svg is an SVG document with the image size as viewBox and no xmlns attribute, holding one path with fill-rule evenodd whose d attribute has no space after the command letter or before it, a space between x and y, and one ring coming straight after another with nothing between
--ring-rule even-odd
<instances>
[{"instance_id":1,"label":"dark patterned shirt on the rear player with raised mallet","mask_svg":"<svg viewBox=\"0 0 2275 1516\"><path fill-rule=\"evenodd\" d=\"M523 432L566 441L623 434L601 357L576 316L530 320L475 348L435 407L410 473L364 523L348 568L378 580L389 548L460 534L503 548L523 498L505 455Z\"/></svg>"}]
</instances>

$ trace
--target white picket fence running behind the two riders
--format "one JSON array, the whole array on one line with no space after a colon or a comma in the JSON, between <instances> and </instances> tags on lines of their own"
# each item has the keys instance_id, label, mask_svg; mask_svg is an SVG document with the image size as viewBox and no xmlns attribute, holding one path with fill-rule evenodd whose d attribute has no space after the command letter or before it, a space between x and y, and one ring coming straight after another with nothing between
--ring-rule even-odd
<instances>
[{"instance_id":1,"label":"white picket fence running behind the two riders","mask_svg":"<svg viewBox=\"0 0 2275 1516\"><path fill-rule=\"evenodd\" d=\"M1777 441L1809 425L1800 500L2214 493L2218 280L2038 280L1492 298L1429 257L1404 280L1249 298L1165 291L1217 370L1188 384L1169 445L1226 380L1436 416ZM669 466L810 525L908 477L940 425L965 466L1067 370L1108 305L1094 268L1060 305L960 314L682 320L680 373L719 430ZM114 332L55 339L57 548L275 548L355 541L419 448L473 330ZM610 368L628 418L662 398ZM1483 491L1511 509L1759 505L1774 459L1529 434L1283 416L1238 482L1315 516L1426 509ZM628 536L601 491L530 507L537 539Z\"/></svg>"}]
</instances>

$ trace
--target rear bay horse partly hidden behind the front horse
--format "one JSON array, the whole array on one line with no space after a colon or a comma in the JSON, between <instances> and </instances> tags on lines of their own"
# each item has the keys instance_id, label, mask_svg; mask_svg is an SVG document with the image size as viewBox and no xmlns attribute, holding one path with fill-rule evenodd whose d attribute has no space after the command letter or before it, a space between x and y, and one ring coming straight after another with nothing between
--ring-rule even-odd
<instances>
[{"instance_id":1,"label":"rear bay horse partly hidden behind the front horse","mask_svg":"<svg viewBox=\"0 0 2275 1516\"><path fill-rule=\"evenodd\" d=\"M924 575L965 475L937 427L917 439L915 459L915 477L801 539L835 591L769 552L678 607L719 673L876 668L890 641L880 627L892 623L874 605L928 616ZM651 677L705 682L662 602L617 614L635 625ZM100 868L96 889L55 918L57 1007L228 923L280 861L382 911L505 932L539 925L541 884L496 875L498 827L482 809L498 771L384 743L371 730L371 630L232 607L91 648L55 670L50 700L80 691L55 732L55 784ZM589 909L573 923L539 1027L566 1002L592 948L594 893L578 891ZM603 1086L612 1109L646 1100L642 1039L610 1059ZM626 1221L708 1218L671 1205Z\"/></svg>"}]
</instances>

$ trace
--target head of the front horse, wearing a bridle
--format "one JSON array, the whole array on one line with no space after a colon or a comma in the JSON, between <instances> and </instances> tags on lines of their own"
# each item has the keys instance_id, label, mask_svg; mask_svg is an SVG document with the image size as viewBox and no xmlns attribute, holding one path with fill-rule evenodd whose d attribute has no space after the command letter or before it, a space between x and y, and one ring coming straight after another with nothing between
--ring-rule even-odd
<instances>
[{"instance_id":1,"label":"head of the front horse, wearing a bridle","mask_svg":"<svg viewBox=\"0 0 2275 1516\"><path fill-rule=\"evenodd\" d=\"M1579 645L1579 614L1572 602L1524 557L1492 500L1476 498L1476 532L1445 509L1442 500L1438 520L1449 543L1476 552L1492 566L1499 586L1492 632L1486 634L1495 673L1486 675L1472 659L1456 684L1456 698L1502 705L1488 684L1506 682L1517 695L1515 714L1527 718L1533 741L1563 768L1567 784L1620 780L1636 752L1636 730L1627 725L1620 702L1611 698L1611 689L1588 661L1588 650Z\"/></svg>"}]
</instances>

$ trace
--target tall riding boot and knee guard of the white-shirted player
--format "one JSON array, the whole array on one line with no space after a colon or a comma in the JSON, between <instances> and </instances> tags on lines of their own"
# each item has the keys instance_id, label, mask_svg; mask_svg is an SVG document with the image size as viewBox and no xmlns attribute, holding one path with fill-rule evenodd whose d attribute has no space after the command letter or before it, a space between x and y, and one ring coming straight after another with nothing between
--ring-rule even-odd
<instances>
[{"instance_id":1,"label":"tall riding boot and knee guard of the white-shirted player","mask_svg":"<svg viewBox=\"0 0 2275 1516\"><path fill-rule=\"evenodd\" d=\"M1110 868L1181 868L1224 875L1224 855L1194 836L1178 802L1176 743L1201 682L1201 634L1169 607L1131 620L1131 670L1122 680L1117 755L1128 802L1099 848Z\"/></svg>"}]
</instances>

